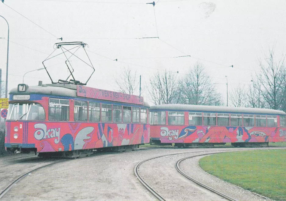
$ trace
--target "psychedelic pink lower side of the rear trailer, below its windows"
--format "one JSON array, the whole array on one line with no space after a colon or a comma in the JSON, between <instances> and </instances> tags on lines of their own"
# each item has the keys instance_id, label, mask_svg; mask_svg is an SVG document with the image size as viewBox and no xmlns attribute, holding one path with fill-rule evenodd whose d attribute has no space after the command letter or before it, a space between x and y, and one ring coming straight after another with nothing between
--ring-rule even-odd
<instances>
[{"instance_id":1,"label":"psychedelic pink lower side of the rear trailer, below its windows","mask_svg":"<svg viewBox=\"0 0 286 201\"><path fill-rule=\"evenodd\" d=\"M286 142L283 127L151 125L152 141L160 143Z\"/></svg>"}]
</instances>

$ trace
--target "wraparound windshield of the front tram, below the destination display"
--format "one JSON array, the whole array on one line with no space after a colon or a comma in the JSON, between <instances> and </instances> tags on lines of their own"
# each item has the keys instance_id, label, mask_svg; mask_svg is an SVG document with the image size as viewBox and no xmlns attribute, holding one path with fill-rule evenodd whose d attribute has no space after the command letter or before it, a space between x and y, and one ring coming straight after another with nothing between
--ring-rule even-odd
<instances>
[{"instance_id":1,"label":"wraparound windshield of the front tram, below the destination display","mask_svg":"<svg viewBox=\"0 0 286 201\"><path fill-rule=\"evenodd\" d=\"M45 110L38 103L9 104L7 120L45 120Z\"/></svg>"}]
</instances>

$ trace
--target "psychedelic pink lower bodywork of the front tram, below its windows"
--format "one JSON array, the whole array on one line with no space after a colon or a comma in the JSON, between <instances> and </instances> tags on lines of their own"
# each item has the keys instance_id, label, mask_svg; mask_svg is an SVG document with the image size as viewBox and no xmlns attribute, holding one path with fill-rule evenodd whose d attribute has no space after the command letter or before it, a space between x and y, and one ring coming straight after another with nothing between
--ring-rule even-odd
<instances>
[{"instance_id":1,"label":"psychedelic pink lower bodywork of the front tram, below its windows","mask_svg":"<svg viewBox=\"0 0 286 201\"><path fill-rule=\"evenodd\" d=\"M17 125L16 125L17 124ZM13 128L17 131L15 139ZM149 143L148 124L80 122L7 122L5 146L36 148L37 152L96 149Z\"/></svg>"}]
</instances>

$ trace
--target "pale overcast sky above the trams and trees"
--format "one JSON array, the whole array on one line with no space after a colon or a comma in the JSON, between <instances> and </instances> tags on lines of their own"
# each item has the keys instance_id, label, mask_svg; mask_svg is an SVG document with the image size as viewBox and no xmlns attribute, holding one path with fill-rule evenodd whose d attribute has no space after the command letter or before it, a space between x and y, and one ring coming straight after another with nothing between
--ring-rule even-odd
<instances>
[{"instance_id":1,"label":"pale overcast sky above the trams and trees","mask_svg":"<svg viewBox=\"0 0 286 201\"><path fill-rule=\"evenodd\" d=\"M119 90L124 68L141 75L148 100L150 78L165 70L183 78L200 62L222 94L224 104L237 86L247 86L274 47L285 56L285 1L197 0L4 0L0 16L9 23L8 91L23 81L51 83L42 62L59 42L83 41L95 68L87 86ZM8 26L0 17L0 68L6 77ZM57 38L63 38L60 41ZM82 54L82 56L85 56ZM183 57L184 56L184 57ZM85 58L86 59L86 58ZM117 59L117 61L116 61ZM49 73L66 79L64 58ZM86 60L85 60L86 61ZM71 59L73 64L75 60ZM47 63L48 64L48 63ZM231 67L233 65L233 67ZM75 64L85 82L91 68ZM36 70L33 72L29 72ZM227 79L226 77L227 76ZM138 93L138 92L137 92ZM139 94L135 94L139 95Z\"/></svg>"}]
</instances>

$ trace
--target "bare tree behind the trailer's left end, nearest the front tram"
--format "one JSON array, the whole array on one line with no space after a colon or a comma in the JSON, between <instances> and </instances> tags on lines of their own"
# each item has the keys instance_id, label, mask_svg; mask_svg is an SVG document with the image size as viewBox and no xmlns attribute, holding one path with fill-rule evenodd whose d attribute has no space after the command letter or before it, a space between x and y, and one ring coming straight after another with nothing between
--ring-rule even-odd
<instances>
[{"instance_id":1,"label":"bare tree behind the trailer's left end, nearest the front tram","mask_svg":"<svg viewBox=\"0 0 286 201\"><path fill-rule=\"evenodd\" d=\"M175 103L177 94L177 79L173 72L157 72L150 78L148 92L152 103L170 104Z\"/></svg>"}]
</instances>

